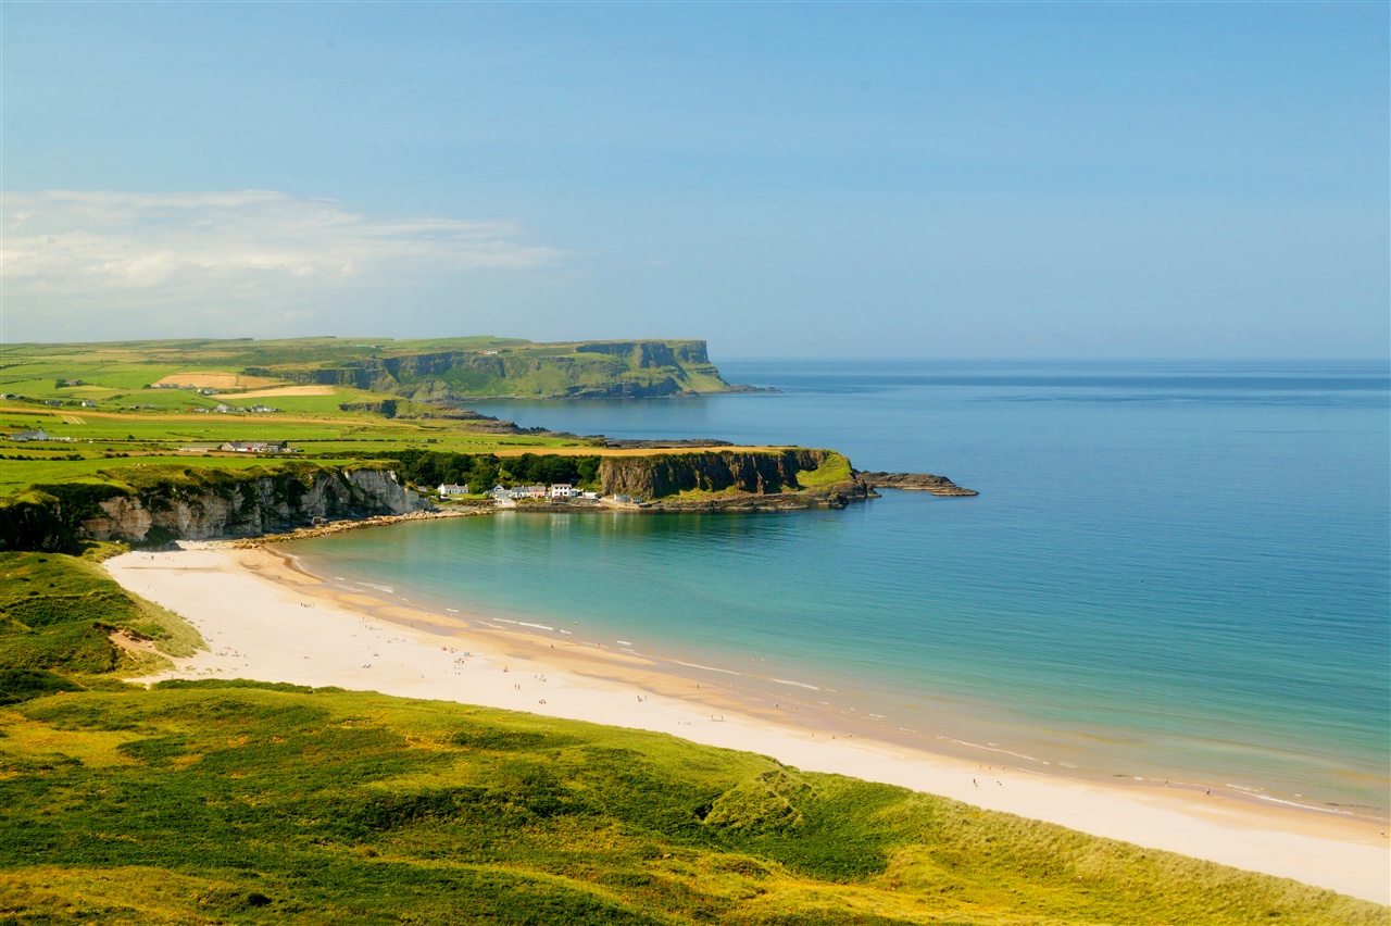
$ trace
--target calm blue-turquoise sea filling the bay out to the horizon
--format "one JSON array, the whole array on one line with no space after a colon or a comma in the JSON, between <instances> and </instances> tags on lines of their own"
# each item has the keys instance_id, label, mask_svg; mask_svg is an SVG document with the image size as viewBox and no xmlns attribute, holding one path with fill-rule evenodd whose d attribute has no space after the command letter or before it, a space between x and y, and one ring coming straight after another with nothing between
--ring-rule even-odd
<instances>
[{"instance_id":1,"label":"calm blue-turquoise sea filling the bay out to the horizon","mask_svg":"<svg viewBox=\"0 0 1391 926\"><path fill-rule=\"evenodd\" d=\"M1391 805L1387 364L721 370L783 392L476 407L580 434L829 446L981 495L512 513L295 552L416 603L579 620L586 638L1029 767Z\"/></svg>"}]
</instances>

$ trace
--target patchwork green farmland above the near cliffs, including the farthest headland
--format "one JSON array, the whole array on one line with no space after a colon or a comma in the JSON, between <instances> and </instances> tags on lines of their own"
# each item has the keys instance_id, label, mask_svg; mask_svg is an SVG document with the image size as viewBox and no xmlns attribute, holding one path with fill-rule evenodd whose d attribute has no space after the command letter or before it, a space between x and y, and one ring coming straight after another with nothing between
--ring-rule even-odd
<instances>
[{"instance_id":1,"label":"patchwork green farmland above the near cliffs, including the farthest headland","mask_svg":"<svg viewBox=\"0 0 1391 926\"><path fill-rule=\"evenodd\" d=\"M161 381L179 388L153 388ZM216 395L193 387L216 388ZM117 466L236 470L267 462L182 452L228 441L288 441L298 459L339 464L364 455L380 459L383 449L515 455L587 448L595 442L469 420L462 403L474 393L636 389L641 395L650 388L662 393L729 387L698 341L547 345L506 338L298 338L8 345L0 348L0 395L10 396L0 398L0 498L33 484L108 482L104 471ZM260 395L264 391L277 393ZM83 400L95 405L83 406ZM228 410L218 412L220 405ZM256 405L274 412L250 412ZM8 439L33 430L56 439Z\"/></svg>"}]
</instances>

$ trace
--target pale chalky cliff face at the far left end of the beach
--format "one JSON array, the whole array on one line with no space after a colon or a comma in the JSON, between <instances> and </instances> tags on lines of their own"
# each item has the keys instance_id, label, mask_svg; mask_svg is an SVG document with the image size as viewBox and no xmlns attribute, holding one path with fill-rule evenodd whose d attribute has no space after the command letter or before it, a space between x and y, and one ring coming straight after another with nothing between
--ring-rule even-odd
<instances>
[{"instance_id":1,"label":"pale chalky cliff face at the far left end of the beach","mask_svg":"<svg viewBox=\"0 0 1391 926\"><path fill-rule=\"evenodd\" d=\"M117 495L97 502L100 513L83 519L77 534L140 542L157 530L181 539L213 539L424 507L428 502L389 470L280 473L216 488L154 485Z\"/></svg>"}]
</instances>

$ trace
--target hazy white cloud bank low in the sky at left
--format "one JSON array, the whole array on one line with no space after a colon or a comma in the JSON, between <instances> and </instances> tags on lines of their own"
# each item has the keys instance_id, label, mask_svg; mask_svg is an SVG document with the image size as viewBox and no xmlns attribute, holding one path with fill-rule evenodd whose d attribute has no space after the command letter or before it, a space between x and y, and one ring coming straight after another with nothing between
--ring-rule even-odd
<instances>
[{"instance_id":1,"label":"hazy white cloud bank low in the sky at left","mask_svg":"<svg viewBox=\"0 0 1391 926\"><path fill-rule=\"evenodd\" d=\"M313 321L364 291L409 293L561 256L509 222L369 217L266 190L0 196L7 341L234 334L231 320L245 332L246 321ZM189 332L195 323L204 330Z\"/></svg>"}]
</instances>

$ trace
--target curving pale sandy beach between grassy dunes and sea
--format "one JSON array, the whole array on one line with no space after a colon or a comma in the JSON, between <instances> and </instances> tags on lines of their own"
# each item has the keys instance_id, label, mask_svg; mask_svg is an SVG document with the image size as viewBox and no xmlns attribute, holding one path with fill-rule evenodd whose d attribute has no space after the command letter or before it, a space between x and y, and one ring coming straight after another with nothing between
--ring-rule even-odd
<instances>
[{"instance_id":1,"label":"curving pale sandy beach between grassy dunes and sea","mask_svg":"<svg viewBox=\"0 0 1391 926\"><path fill-rule=\"evenodd\" d=\"M345 592L268 549L188 546L106 563L121 585L179 613L207 641L160 677L339 685L669 733L1391 902L1391 851L1376 820L986 767L836 736L812 715L769 716L718 685L556 628Z\"/></svg>"}]
</instances>

